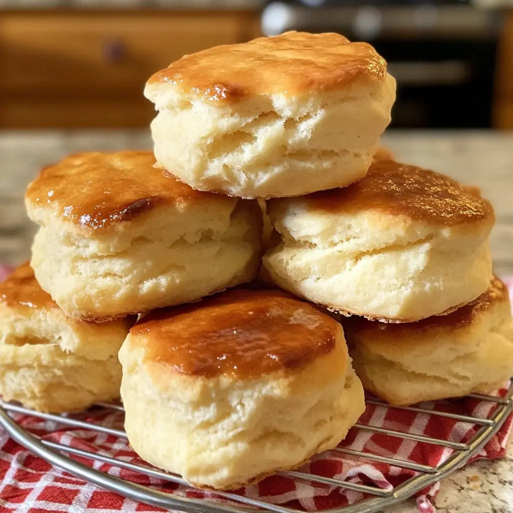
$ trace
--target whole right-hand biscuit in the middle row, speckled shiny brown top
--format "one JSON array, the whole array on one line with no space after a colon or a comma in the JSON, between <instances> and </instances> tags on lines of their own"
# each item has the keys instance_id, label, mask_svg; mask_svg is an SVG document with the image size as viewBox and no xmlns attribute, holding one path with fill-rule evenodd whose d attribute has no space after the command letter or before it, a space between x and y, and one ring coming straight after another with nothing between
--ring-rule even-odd
<instances>
[{"instance_id":1,"label":"whole right-hand biscuit in the middle row, speckled shiny brown top","mask_svg":"<svg viewBox=\"0 0 513 513\"><path fill-rule=\"evenodd\" d=\"M273 199L274 283L342 313L411 322L488 287L494 211L475 188L386 159L344 189Z\"/></svg>"}]
</instances>

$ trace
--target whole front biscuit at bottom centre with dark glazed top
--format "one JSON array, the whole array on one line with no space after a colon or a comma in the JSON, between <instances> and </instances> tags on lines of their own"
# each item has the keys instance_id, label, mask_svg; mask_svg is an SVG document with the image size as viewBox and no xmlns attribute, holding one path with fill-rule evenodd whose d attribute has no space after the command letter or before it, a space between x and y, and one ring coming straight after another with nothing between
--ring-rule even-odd
<instances>
[{"instance_id":1,"label":"whole front biscuit at bottom centre with dark glazed top","mask_svg":"<svg viewBox=\"0 0 513 513\"><path fill-rule=\"evenodd\" d=\"M297 467L335 447L365 409L340 324L281 291L151 312L119 356L130 445L198 487Z\"/></svg>"}]
</instances>

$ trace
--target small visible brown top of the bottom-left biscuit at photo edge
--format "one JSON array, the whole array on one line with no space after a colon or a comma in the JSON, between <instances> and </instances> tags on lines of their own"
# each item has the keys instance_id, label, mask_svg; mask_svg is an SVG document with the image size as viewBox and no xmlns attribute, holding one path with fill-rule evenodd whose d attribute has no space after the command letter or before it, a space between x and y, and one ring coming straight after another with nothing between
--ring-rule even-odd
<instances>
[{"instance_id":1,"label":"small visible brown top of the bottom-left biscuit at photo edge","mask_svg":"<svg viewBox=\"0 0 513 513\"><path fill-rule=\"evenodd\" d=\"M56 303L37 283L30 264L17 267L0 283L0 303L10 307L58 308Z\"/></svg>"}]
</instances>

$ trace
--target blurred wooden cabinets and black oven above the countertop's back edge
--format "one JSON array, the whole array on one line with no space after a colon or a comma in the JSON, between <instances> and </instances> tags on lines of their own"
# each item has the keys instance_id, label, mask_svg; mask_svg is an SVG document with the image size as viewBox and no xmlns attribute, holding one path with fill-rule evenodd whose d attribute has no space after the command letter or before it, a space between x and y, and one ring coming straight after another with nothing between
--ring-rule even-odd
<instances>
[{"instance_id":1,"label":"blurred wooden cabinets and black oven above the countertop's back edge","mask_svg":"<svg viewBox=\"0 0 513 513\"><path fill-rule=\"evenodd\" d=\"M393 127L513 129L513 2L0 0L0 9L2 128L145 127L153 112L141 91L155 70L210 46L305 30L377 48L398 81Z\"/></svg>"}]
</instances>

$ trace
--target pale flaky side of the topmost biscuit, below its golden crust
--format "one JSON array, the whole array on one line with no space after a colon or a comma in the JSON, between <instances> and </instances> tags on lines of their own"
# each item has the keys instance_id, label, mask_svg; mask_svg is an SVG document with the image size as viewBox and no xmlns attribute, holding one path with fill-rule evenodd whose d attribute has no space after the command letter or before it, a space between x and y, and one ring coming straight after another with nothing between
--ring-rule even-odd
<instances>
[{"instance_id":1,"label":"pale flaky side of the topmost biscuit, below its golden crust","mask_svg":"<svg viewBox=\"0 0 513 513\"><path fill-rule=\"evenodd\" d=\"M194 188L243 198L294 196L364 176L390 122L396 82L302 97L203 101L171 84L148 84L157 163Z\"/></svg>"}]
</instances>

